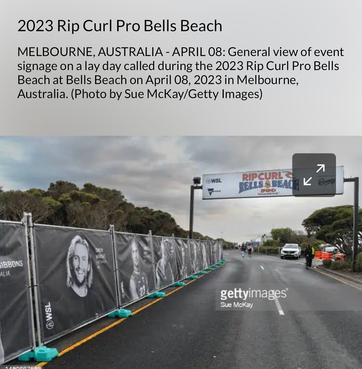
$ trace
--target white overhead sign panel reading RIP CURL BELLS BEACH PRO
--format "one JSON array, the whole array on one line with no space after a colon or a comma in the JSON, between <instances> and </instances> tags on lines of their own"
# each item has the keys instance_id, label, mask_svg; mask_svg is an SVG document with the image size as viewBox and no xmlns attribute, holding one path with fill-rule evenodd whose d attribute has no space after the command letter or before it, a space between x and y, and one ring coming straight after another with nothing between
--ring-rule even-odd
<instances>
[{"instance_id":1,"label":"white overhead sign panel reading RIP CURL BELLS BEACH PRO","mask_svg":"<svg viewBox=\"0 0 362 369\"><path fill-rule=\"evenodd\" d=\"M336 194L343 193L343 166L336 167L335 178L318 177L319 186L329 186L335 182ZM293 178L292 169L276 169L258 172L204 174L202 186L203 200L277 197L293 196L293 187L299 191L300 187L303 186L303 180Z\"/></svg>"}]
</instances>

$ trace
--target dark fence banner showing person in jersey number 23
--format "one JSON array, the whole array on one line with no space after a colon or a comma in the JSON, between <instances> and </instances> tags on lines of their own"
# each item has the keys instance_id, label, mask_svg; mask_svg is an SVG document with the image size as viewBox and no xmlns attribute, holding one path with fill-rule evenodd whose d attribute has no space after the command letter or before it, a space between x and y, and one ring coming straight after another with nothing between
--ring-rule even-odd
<instances>
[{"instance_id":1,"label":"dark fence banner showing person in jersey number 23","mask_svg":"<svg viewBox=\"0 0 362 369\"><path fill-rule=\"evenodd\" d=\"M120 305L124 306L155 290L151 236L115 233Z\"/></svg>"}]
</instances>

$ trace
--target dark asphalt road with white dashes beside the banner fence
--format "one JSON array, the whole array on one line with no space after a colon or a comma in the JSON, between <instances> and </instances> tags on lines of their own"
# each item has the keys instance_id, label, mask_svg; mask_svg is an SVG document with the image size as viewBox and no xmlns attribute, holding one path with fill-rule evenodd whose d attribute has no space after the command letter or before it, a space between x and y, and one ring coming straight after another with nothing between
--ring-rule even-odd
<instances>
[{"instance_id":1,"label":"dark asphalt road with white dashes beside the banner fence","mask_svg":"<svg viewBox=\"0 0 362 369\"><path fill-rule=\"evenodd\" d=\"M304 259L224 258L45 368L362 369L362 287L306 270ZM288 286L292 297L279 307L265 301L265 310L217 311L218 283Z\"/></svg>"}]
</instances>

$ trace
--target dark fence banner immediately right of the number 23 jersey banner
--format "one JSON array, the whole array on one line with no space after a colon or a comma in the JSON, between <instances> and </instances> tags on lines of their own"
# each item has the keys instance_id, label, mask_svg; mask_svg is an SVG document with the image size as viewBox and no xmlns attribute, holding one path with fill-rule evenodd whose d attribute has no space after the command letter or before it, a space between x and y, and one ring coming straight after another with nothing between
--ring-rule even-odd
<instances>
[{"instance_id":1,"label":"dark fence banner immediately right of the number 23 jersey banner","mask_svg":"<svg viewBox=\"0 0 362 369\"><path fill-rule=\"evenodd\" d=\"M172 237L152 236L156 290L177 280L176 252Z\"/></svg>"}]
</instances>

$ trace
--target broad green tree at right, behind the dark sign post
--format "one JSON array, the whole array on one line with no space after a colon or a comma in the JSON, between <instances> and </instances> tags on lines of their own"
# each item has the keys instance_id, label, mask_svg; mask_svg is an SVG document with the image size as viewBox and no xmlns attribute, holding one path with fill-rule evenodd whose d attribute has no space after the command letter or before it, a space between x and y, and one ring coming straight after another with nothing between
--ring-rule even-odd
<instances>
[{"instance_id":1,"label":"broad green tree at right, behind the dark sign post","mask_svg":"<svg viewBox=\"0 0 362 369\"><path fill-rule=\"evenodd\" d=\"M359 209L358 245L362 244L362 209ZM353 206L342 205L314 211L303 220L308 235L315 235L329 244L336 245L347 256L353 247Z\"/></svg>"}]
</instances>

